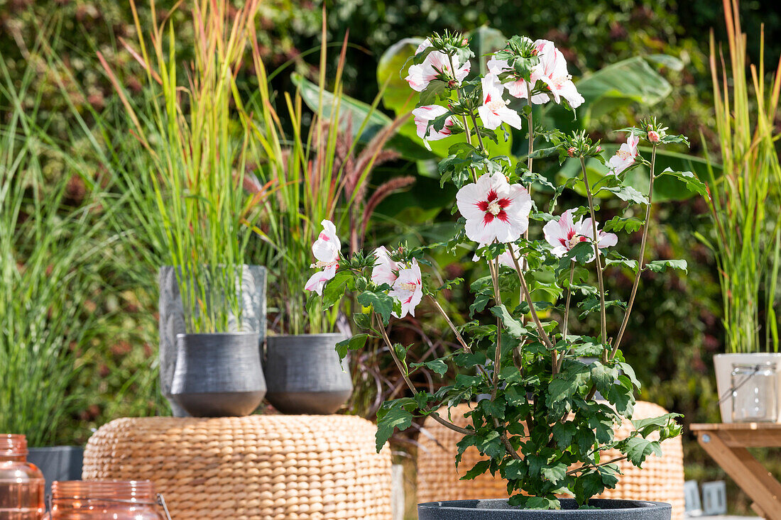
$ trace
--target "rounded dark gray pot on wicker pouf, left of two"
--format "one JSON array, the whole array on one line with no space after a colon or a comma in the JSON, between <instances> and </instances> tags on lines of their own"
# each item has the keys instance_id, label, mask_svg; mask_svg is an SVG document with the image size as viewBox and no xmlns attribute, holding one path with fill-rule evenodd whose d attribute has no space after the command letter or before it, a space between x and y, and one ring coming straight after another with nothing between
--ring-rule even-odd
<instances>
[{"instance_id":1,"label":"rounded dark gray pot on wicker pouf, left of two","mask_svg":"<svg viewBox=\"0 0 781 520\"><path fill-rule=\"evenodd\" d=\"M266 395L258 333L179 334L171 397L194 417L250 415Z\"/></svg>"}]
</instances>

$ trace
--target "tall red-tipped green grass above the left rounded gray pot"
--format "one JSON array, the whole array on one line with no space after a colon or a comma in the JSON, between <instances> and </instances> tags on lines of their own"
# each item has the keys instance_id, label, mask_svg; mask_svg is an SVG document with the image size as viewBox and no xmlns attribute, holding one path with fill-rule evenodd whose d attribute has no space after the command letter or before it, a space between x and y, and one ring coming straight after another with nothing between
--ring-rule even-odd
<instances>
[{"instance_id":1,"label":"tall red-tipped green grass above the left rounded gray pot","mask_svg":"<svg viewBox=\"0 0 781 520\"><path fill-rule=\"evenodd\" d=\"M98 54L149 155L150 167L136 173L141 182L133 184L133 195L155 200L159 215L150 218L164 232L159 256L178 268L190 333L226 331L231 316L241 323L238 281L251 236L244 223L255 198L243 188L248 134L231 114L258 5L250 0L235 12L226 0L188 6L194 59L182 78L169 17L160 20L152 2L152 24L142 26L131 1L139 38L137 49L126 46L143 66L149 87L141 107Z\"/></svg>"}]
</instances>

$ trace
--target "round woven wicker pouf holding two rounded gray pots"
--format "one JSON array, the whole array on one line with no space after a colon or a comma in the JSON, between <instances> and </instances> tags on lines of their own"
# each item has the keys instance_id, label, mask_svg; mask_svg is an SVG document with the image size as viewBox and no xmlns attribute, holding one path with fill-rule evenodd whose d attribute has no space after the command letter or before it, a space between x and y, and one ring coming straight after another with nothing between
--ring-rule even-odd
<instances>
[{"instance_id":1,"label":"round woven wicker pouf holding two rounded gray pots","mask_svg":"<svg viewBox=\"0 0 781 520\"><path fill-rule=\"evenodd\" d=\"M391 452L348 415L120 418L91 437L84 479L149 479L175 520L390 520Z\"/></svg>"}]
</instances>

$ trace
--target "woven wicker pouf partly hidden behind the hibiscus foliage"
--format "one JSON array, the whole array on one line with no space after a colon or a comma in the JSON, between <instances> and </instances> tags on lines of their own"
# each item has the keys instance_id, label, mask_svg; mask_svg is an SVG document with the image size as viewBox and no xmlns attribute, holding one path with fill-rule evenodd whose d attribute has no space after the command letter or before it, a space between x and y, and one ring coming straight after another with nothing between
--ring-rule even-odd
<instances>
[{"instance_id":1,"label":"woven wicker pouf partly hidden behind the hibiscus foliage","mask_svg":"<svg viewBox=\"0 0 781 520\"><path fill-rule=\"evenodd\" d=\"M658 404L638 401L635 404L634 417L658 417L667 413ZM451 420L458 426L466 426L469 419L464 414L469 404L459 404L451 408ZM440 415L448 415L447 408ZM632 424L625 421L615 430L616 438L624 439L633 431ZM461 434L454 432L431 418L426 418L423 431L418 436L417 455L417 501L434 502L438 500L469 500L475 498L506 498L505 481L489 474L480 475L474 480L458 480L466 470L483 460L474 447L469 447L463 455L460 469L455 468L455 443ZM602 460L618 457L614 451L605 451ZM683 520L683 446L680 437L665 440L662 443L662 457L647 458L643 468L636 468L628 461L620 461L619 485L615 490L606 490L600 498L627 500L651 500L672 504L672 520Z\"/></svg>"}]
</instances>

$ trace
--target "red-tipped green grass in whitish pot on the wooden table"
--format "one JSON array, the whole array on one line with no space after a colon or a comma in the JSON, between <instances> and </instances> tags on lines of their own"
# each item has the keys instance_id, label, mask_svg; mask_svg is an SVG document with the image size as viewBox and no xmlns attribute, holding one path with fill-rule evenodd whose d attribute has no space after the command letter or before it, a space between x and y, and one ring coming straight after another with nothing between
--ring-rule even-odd
<instances>
[{"instance_id":1,"label":"red-tipped green grass in whitish pot on the wooden table","mask_svg":"<svg viewBox=\"0 0 781 520\"><path fill-rule=\"evenodd\" d=\"M746 35L740 16L724 2L732 69L719 69L711 37L715 122L723 175L711 169L708 198L715 233L705 239L715 253L722 288L727 354L713 358L722 422L733 422L732 372L738 365L777 364L776 287L781 268L781 165L776 151L781 69L765 84L764 55L747 81ZM760 47L764 34L760 36ZM751 373L751 372L749 372ZM781 378L776 392L781 397ZM775 410L781 420L781 400ZM761 407L760 407L761 408ZM740 414L743 415L743 414ZM749 414L751 416L751 414Z\"/></svg>"}]
</instances>

